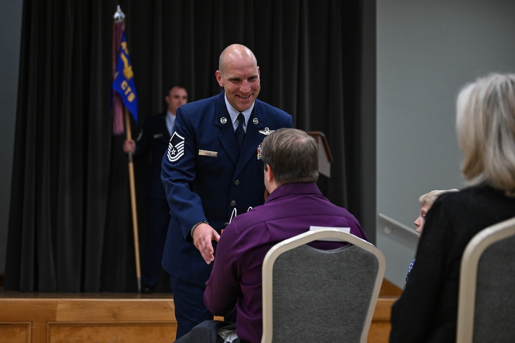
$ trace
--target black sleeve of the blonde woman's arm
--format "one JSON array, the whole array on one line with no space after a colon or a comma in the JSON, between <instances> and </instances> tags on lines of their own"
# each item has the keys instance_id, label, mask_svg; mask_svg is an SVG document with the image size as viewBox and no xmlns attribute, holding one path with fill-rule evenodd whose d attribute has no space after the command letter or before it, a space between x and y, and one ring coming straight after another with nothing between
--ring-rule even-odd
<instances>
[{"instance_id":1,"label":"black sleeve of the blonde woman's arm","mask_svg":"<svg viewBox=\"0 0 515 343\"><path fill-rule=\"evenodd\" d=\"M423 342L438 316L452 238L449 218L438 201L427 213L409 282L391 312L390 342Z\"/></svg>"}]
</instances>

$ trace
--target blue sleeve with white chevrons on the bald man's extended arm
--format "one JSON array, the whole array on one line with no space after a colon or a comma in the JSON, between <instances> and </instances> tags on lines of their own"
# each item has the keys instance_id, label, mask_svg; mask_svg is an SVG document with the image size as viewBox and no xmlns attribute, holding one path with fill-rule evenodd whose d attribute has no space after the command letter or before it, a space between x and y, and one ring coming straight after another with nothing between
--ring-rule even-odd
<instances>
[{"instance_id":1,"label":"blue sleeve with white chevrons on the bald man's extended arm","mask_svg":"<svg viewBox=\"0 0 515 343\"><path fill-rule=\"evenodd\" d=\"M196 141L188 116L177 109L175 132L161 164L161 181L166 191L168 205L178 219L184 238L191 240L191 227L205 221L200 196L194 191L196 176Z\"/></svg>"}]
</instances>

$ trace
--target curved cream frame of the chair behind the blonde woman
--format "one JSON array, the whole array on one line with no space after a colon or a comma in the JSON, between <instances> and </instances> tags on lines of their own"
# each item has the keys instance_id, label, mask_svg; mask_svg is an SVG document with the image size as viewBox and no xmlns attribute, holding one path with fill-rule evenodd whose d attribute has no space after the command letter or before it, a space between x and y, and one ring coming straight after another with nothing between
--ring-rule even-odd
<instances>
[{"instance_id":1,"label":"curved cream frame of the chair behind the blonde woman","mask_svg":"<svg viewBox=\"0 0 515 343\"><path fill-rule=\"evenodd\" d=\"M491 225L467 244L461 258L458 296L457 342L472 342L476 303L477 268L483 252L492 244L515 234L515 217Z\"/></svg>"}]
</instances>

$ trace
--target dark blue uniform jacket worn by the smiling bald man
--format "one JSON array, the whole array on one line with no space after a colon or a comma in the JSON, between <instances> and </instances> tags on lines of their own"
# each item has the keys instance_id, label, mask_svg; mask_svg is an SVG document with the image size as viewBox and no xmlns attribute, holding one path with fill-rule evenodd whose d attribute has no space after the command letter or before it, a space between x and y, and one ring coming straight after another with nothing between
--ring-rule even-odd
<instances>
[{"instance_id":1,"label":"dark blue uniform jacket worn by the smiling bald man","mask_svg":"<svg viewBox=\"0 0 515 343\"><path fill-rule=\"evenodd\" d=\"M236 214L264 203L260 143L271 130L293 127L291 116L260 100L247 122L242 152L227 111L225 93L177 110L175 132L163 156L161 179L171 220L163 268L177 279L205 287L212 264L203 260L190 230L207 221L219 233ZM213 241L216 258L216 242Z\"/></svg>"}]
</instances>

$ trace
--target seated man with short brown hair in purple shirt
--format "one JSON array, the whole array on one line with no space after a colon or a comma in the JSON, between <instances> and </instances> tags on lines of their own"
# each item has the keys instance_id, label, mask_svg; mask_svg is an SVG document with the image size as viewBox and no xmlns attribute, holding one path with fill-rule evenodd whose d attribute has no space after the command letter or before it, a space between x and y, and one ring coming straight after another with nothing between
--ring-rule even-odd
<instances>
[{"instance_id":1,"label":"seated man with short brown hair in purple shirt","mask_svg":"<svg viewBox=\"0 0 515 343\"><path fill-rule=\"evenodd\" d=\"M318 144L304 131L279 129L262 143L265 204L235 216L220 236L204 303L216 316L234 309L237 322L204 321L177 342L260 342L263 335L263 259L275 244L310 226L349 227L368 240L357 219L325 198L317 185ZM333 249L341 242L314 242ZM227 338L222 338L227 337Z\"/></svg>"}]
</instances>

